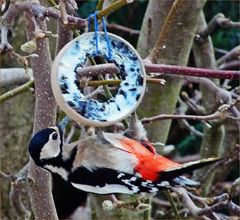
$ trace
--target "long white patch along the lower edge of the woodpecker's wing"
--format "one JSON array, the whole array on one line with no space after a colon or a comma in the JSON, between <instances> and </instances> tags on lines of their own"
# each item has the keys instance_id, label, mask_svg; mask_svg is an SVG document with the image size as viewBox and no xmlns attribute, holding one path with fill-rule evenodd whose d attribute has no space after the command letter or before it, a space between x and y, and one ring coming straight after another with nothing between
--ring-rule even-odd
<instances>
[{"instance_id":1,"label":"long white patch along the lower edge of the woodpecker's wing","mask_svg":"<svg viewBox=\"0 0 240 220\"><path fill-rule=\"evenodd\" d=\"M112 193L124 193L133 194L134 191L129 190L128 187L119 184L106 184L103 187L89 186L84 184L72 183L72 185L80 190L96 193L96 194L112 194Z\"/></svg>"}]
</instances>

